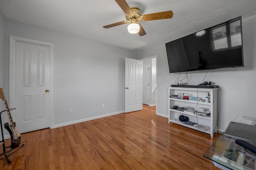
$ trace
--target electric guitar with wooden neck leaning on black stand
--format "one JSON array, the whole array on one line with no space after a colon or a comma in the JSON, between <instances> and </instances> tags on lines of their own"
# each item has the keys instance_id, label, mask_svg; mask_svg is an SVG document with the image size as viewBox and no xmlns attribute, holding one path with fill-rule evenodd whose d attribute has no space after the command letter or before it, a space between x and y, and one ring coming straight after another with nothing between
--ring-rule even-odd
<instances>
[{"instance_id":1,"label":"electric guitar with wooden neck leaning on black stand","mask_svg":"<svg viewBox=\"0 0 256 170\"><path fill-rule=\"evenodd\" d=\"M18 129L16 127L15 122L12 121L12 116L11 116L11 113L10 113L10 109L9 109L7 101L4 97L4 92L3 92L2 88L0 88L0 96L1 96L1 99L4 101L6 112L8 114L8 118L10 120L10 124L9 123L4 123L4 128L6 128L8 130L8 132L10 133L11 148L14 149L14 148L17 148L20 145L20 141L21 141L20 133L18 132Z\"/></svg>"}]
</instances>

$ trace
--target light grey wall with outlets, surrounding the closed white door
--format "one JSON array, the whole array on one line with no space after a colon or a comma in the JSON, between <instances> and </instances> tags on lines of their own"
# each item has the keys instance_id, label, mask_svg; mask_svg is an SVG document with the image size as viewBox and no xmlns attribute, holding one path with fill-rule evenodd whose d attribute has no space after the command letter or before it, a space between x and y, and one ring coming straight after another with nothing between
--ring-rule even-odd
<instances>
[{"instance_id":1,"label":"light grey wall with outlets, surrounding the closed white door","mask_svg":"<svg viewBox=\"0 0 256 170\"><path fill-rule=\"evenodd\" d=\"M124 111L124 58L137 59L137 52L5 20L5 91L10 35L54 43L54 127Z\"/></svg>"}]
</instances>

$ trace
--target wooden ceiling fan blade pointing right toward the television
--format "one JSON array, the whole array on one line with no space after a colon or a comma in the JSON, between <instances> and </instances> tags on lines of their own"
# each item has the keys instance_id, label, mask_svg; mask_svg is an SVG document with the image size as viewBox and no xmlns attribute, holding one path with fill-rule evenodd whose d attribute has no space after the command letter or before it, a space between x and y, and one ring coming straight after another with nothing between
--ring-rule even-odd
<instances>
[{"instance_id":1,"label":"wooden ceiling fan blade pointing right toward the television","mask_svg":"<svg viewBox=\"0 0 256 170\"><path fill-rule=\"evenodd\" d=\"M152 14L146 14L141 16L142 21L162 20L172 18L172 11L157 12Z\"/></svg>"}]
</instances>

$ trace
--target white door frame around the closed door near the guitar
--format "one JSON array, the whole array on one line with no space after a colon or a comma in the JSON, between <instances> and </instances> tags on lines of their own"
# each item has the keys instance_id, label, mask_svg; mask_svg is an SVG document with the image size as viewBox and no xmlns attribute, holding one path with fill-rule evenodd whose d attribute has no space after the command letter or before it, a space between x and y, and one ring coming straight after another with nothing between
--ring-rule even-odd
<instances>
[{"instance_id":1,"label":"white door frame around the closed door near the guitar","mask_svg":"<svg viewBox=\"0 0 256 170\"><path fill-rule=\"evenodd\" d=\"M54 90L53 90L53 67L54 67L54 53L53 43L41 42L27 38L10 36L10 65L9 65L9 93L10 93L10 106L16 107L16 42L31 43L35 45L44 45L50 49L50 128L53 128L53 115L54 115ZM14 121L16 121L16 111L12 111Z\"/></svg>"}]
</instances>

